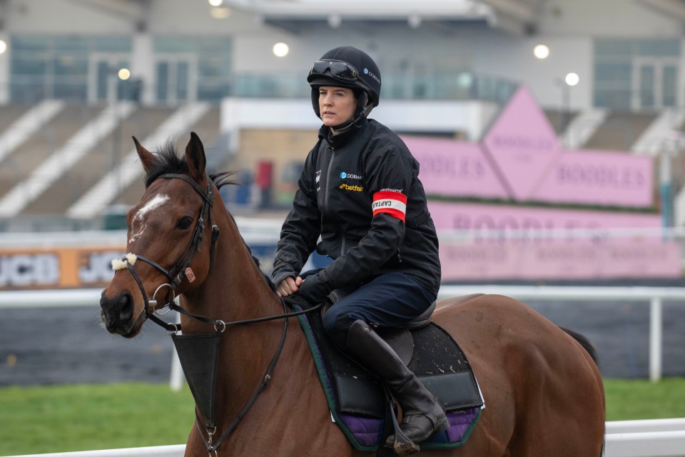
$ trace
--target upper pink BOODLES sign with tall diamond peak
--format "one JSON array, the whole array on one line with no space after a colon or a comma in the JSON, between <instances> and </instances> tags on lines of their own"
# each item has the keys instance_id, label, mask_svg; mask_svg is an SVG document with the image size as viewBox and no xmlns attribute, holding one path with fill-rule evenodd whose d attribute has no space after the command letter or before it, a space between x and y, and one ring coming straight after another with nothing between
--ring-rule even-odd
<instances>
[{"instance_id":1,"label":"upper pink BOODLES sign with tall diamond peak","mask_svg":"<svg viewBox=\"0 0 685 457\"><path fill-rule=\"evenodd\" d=\"M433 196L649 208L652 161L616 151L569 151L525 87L482 143L402 136Z\"/></svg>"}]
</instances>

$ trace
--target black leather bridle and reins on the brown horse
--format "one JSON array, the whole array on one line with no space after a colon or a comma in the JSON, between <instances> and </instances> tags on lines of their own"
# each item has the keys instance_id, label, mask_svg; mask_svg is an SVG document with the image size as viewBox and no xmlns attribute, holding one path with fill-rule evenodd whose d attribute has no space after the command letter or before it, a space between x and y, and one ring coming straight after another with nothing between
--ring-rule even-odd
<instances>
[{"instance_id":1,"label":"black leather bridle and reins on the brown horse","mask_svg":"<svg viewBox=\"0 0 685 457\"><path fill-rule=\"evenodd\" d=\"M147 258L145 256L141 256L136 254L136 260L141 260L145 263L148 263L149 265L153 266L156 268L158 271L161 271L164 276L168 279L168 283L163 283L161 286L158 286L153 293L153 296L151 298L148 298L148 295L145 291L145 288L143 286L143 281L141 281L140 276L138 276L138 272L136 271L135 266L133 266L133 262L129 261L128 256L123 256L121 258L121 261L125 264L125 268L128 269L128 271L131 272L131 276L133 276L133 279L136 281L138 284L138 288L140 288L141 294L143 295L143 301L145 303L145 308L143 308L143 311L141 311L141 314L138 316L136 320L146 320L150 319L154 323L158 324L159 326L165 328L169 333L172 334L172 337L176 336L178 331L181 331L181 324L180 323L168 323L166 321L163 321L161 318L158 317L168 313L168 311L177 311L178 313L184 314L186 316L189 316L191 318L196 319L197 321L201 321L203 323L208 323L210 325L214 326L215 329L215 336L220 336L221 333L225 331L226 328L229 326L236 326L236 325L243 325L243 324L249 324L249 323L260 323L260 322L266 322L266 321L273 321L276 319L283 319L283 333L280 338L280 342L278 344L278 348L276 348L275 354L268 366L268 369L265 373L265 376L263 377L262 381L259 383L257 389L255 390L255 393L253 393L253 396L250 398L250 400L245 404L243 409L238 413L237 416L233 419L233 421L229 424L229 426L225 429L225 431L221 434L221 436L214 441L214 435L216 432L216 426L215 426L215 420L214 417L205 417L205 428L207 430L208 438L205 438L204 434L202 433L202 428L200 426L200 417L198 416L198 413L196 411L196 424L198 426L198 429L200 431L200 436L203 439L203 442L205 443L205 446L207 446L207 451L209 453L209 456L216 456L218 452L218 447L220 446L223 441L225 441L226 438L230 435L230 433L235 429L235 427L238 426L238 423L245 417L245 414L248 413L250 407L255 403L257 400L258 396L266 386L268 386L268 383L271 381L271 376L272 373L275 369L276 363L278 362L278 359L280 358L280 354L283 352L283 346L285 345L285 336L288 332L288 318L289 317L294 317L294 316L300 316L300 314L303 313L308 313L311 311L315 311L316 309L320 308L321 305L314 306L313 308L308 308L304 311L295 311L292 313L288 313L288 309L285 306L285 302L283 299L281 299L281 303L283 304L283 314L277 315L277 316L266 316L262 318L253 318L253 319L245 319L243 321L233 321L233 322L225 322L221 320L215 320L213 318L209 318L206 316L200 316L198 314L193 314L190 311L187 311L185 308L182 308L181 306L178 306L175 303L175 298L176 298L176 288L183 282L184 279L188 278L189 281L194 281L194 273L192 269L190 268L191 261L193 260L193 256L195 255L196 252L200 252L200 246L203 240L203 233L205 231L205 221L209 221L209 224L212 227L212 238L211 238L211 246L210 246L210 269L213 267L214 264L214 251L215 251L215 246L216 246L216 241L218 240L220 229L219 227L214 224L213 216L212 216L212 206L214 203L214 191L213 191L213 182L211 179L208 179L208 185L207 185L207 191L203 191L201 187L193 181L193 179L189 178L186 175L183 174L163 174L158 177L159 179L183 179L183 181L186 181L188 184L191 184L193 186L193 189L202 197L203 199L203 205L202 209L200 211L200 216L198 217L198 221L196 223L195 229L193 230L193 235L191 236L191 240L188 242L188 246L186 246L186 250L183 252L183 255L179 260L171 267L171 268L164 268L161 266L159 263L156 261L151 260L150 258ZM153 310L152 313L149 312L150 306L156 307L158 304L158 301L156 299L157 293L161 291L163 288L168 288L168 292L166 293L166 298L169 297L171 293L171 299L167 301L161 308L168 308L167 311L163 313L157 314L155 310ZM176 342L176 341L175 341ZM178 347L178 346L177 346ZM187 376L186 376L187 377ZM195 393L193 392L193 396L195 396ZM213 402L213 398L211 401ZM198 399L196 398L196 403L198 403ZM212 408L213 411L213 408ZM210 416L213 416L213 413L210 414Z\"/></svg>"}]
</instances>

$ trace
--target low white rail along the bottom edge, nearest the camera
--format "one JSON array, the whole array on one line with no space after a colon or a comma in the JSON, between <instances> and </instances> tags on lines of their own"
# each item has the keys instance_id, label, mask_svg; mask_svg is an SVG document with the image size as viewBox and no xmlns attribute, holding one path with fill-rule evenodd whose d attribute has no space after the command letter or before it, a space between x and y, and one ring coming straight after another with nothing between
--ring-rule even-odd
<instances>
[{"instance_id":1,"label":"low white rail along the bottom edge, nearest the camera","mask_svg":"<svg viewBox=\"0 0 685 457\"><path fill-rule=\"evenodd\" d=\"M12 457L183 457L186 445ZM607 422L605 457L685 457L685 418Z\"/></svg>"}]
</instances>

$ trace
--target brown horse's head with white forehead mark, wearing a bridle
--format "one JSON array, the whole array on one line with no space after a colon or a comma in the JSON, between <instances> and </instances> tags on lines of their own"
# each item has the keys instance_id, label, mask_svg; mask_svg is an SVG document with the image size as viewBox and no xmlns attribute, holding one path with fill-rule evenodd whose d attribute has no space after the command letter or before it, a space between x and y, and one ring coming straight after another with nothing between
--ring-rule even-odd
<instances>
[{"instance_id":1,"label":"brown horse's head with white forehead mark, wearing a bridle","mask_svg":"<svg viewBox=\"0 0 685 457\"><path fill-rule=\"evenodd\" d=\"M126 256L103 290L101 318L107 331L127 338L140 333L151 313L203 284L218 227L213 224L217 188L205 173L205 151L191 134L180 157L169 142L156 154L133 137L146 172L146 191L126 214Z\"/></svg>"}]
</instances>

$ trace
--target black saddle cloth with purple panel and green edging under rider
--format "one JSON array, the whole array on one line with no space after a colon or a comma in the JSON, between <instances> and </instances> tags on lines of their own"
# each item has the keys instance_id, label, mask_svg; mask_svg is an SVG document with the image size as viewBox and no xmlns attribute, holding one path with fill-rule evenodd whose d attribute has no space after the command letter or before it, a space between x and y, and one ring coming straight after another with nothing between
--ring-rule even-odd
<instances>
[{"instance_id":1,"label":"black saddle cloth with purple panel and green edging under rider","mask_svg":"<svg viewBox=\"0 0 685 457\"><path fill-rule=\"evenodd\" d=\"M294 297L286 299L294 311L309 307ZM357 450L378 451L388 433L385 422L389 406L382 384L338 351L324 333L320 311L300 315L298 321L312 351L333 421ZM378 333L384 336L382 331ZM452 337L434 323L412 330L411 335L414 352L407 366L445 406L450 420L447 431L422 441L421 448L462 446L484 406L470 364Z\"/></svg>"}]
</instances>

